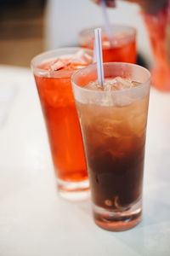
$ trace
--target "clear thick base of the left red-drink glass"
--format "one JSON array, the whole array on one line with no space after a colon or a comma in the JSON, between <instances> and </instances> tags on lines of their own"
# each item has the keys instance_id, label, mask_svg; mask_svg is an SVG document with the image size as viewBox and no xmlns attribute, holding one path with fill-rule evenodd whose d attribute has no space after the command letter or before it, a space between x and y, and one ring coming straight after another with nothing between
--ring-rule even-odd
<instances>
[{"instance_id":1,"label":"clear thick base of the left red-drink glass","mask_svg":"<svg viewBox=\"0 0 170 256\"><path fill-rule=\"evenodd\" d=\"M89 181L69 183L57 179L59 195L69 201L82 201L89 197Z\"/></svg>"}]
</instances>

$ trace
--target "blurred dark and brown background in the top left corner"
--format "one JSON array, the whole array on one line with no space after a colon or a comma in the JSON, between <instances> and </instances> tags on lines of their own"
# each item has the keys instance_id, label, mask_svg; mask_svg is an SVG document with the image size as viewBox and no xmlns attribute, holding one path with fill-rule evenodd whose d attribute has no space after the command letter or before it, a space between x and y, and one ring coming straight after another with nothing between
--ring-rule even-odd
<instances>
[{"instance_id":1,"label":"blurred dark and brown background in the top left corner","mask_svg":"<svg viewBox=\"0 0 170 256\"><path fill-rule=\"evenodd\" d=\"M0 64L28 67L44 49L45 0L0 0Z\"/></svg>"}]
</instances>

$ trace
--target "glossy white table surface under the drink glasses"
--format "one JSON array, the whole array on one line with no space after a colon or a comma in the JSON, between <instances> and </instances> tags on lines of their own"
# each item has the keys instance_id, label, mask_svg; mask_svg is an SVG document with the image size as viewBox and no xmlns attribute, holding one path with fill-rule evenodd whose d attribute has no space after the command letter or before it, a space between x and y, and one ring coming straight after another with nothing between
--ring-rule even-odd
<instances>
[{"instance_id":1,"label":"glossy white table surface under the drink glasses","mask_svg":"<svg viewBox=\"0 0 170 256\"><path fill-rule=\"evenodd\" d=\"M16 90L0 126L0 255L170 255L170 94L150 93L143 221L115 233L94 224L89 201L57 195L31 71L0 66L0 83Z\"/></svg>"}]
</instances>

